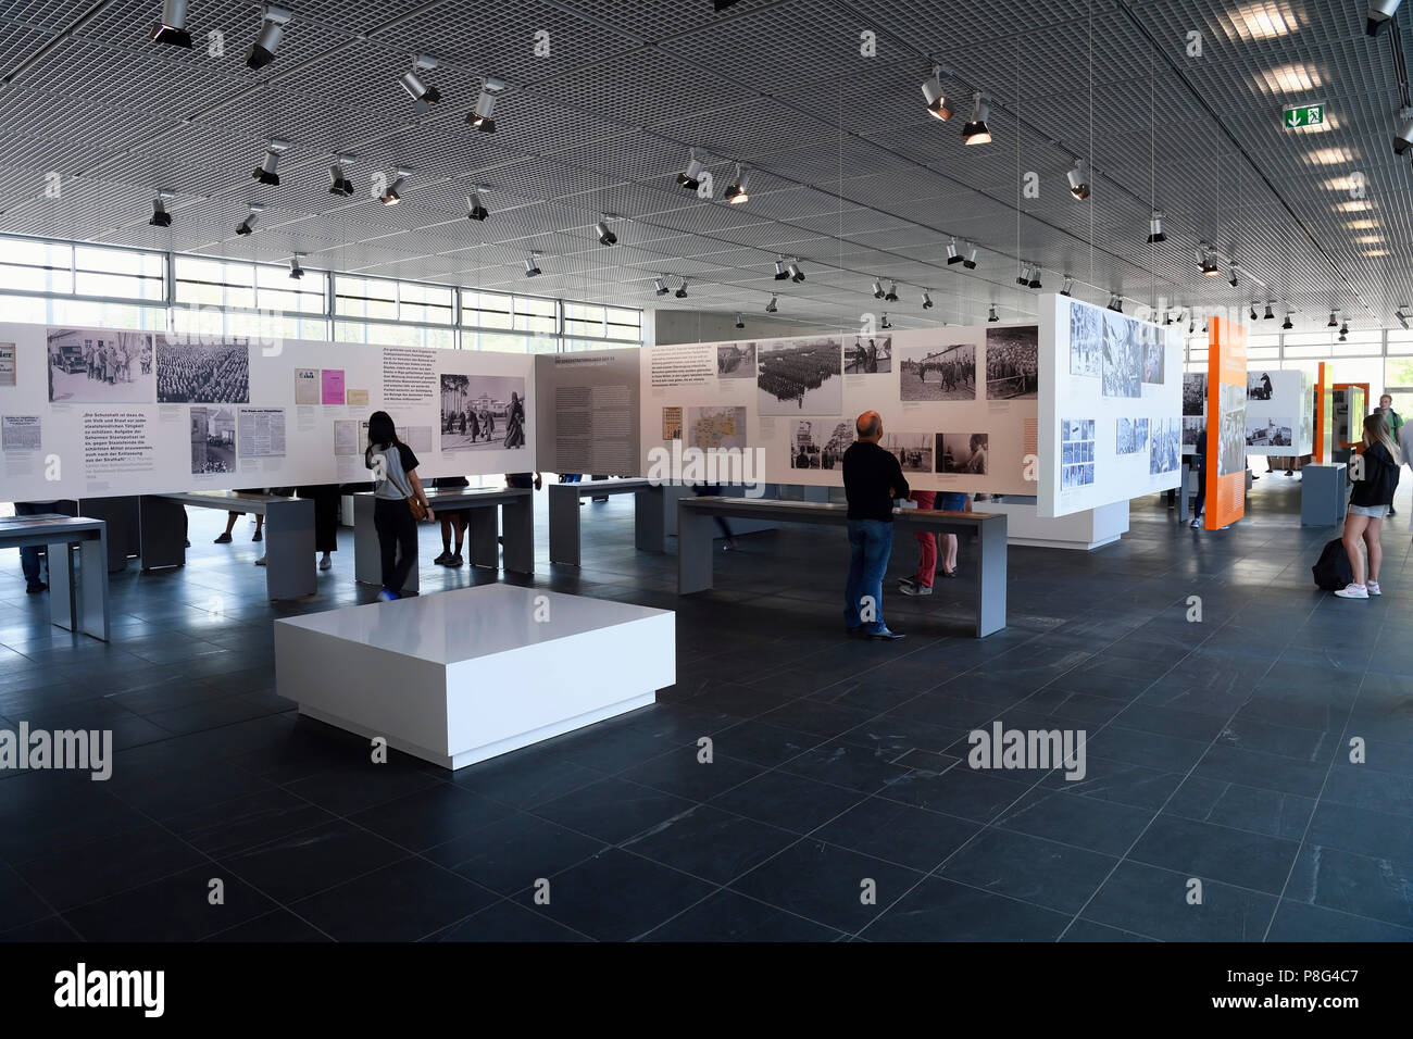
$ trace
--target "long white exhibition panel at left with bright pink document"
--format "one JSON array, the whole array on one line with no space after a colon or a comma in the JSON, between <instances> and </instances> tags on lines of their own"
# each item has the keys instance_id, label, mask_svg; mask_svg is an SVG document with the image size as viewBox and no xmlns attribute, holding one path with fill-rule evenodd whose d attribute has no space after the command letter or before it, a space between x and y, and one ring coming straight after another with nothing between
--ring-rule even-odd
<instances>
[{"instance_id":1,"label":"long white exhibition panel at left with bright pink document","mask_svg":"<svg viewBox=\"0 0 1413 1039\"><path fill-rule=\"evenodd\" d=\"M533 356L30 324L0 342L7 500L365 482L377 410L424 479L536 468ZM523 445L506 447L516 409Z\"/></svg>"}]
</instances>

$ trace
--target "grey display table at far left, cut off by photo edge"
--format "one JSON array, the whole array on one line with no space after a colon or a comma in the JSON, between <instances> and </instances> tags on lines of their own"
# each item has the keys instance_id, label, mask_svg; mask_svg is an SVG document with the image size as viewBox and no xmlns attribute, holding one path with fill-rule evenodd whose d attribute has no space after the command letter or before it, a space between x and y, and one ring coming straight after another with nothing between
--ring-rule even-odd
<instances>
[{"instance_id":1,"label":"grey display table at far left, cut off by photo edge","mask_svg":"<svg viewBox=\"0 0 1413 1039\"><path fill-rule=\"evenodd\" d=\"M79 567L71 548L78 546ZM49 619L71 632L107 642L107 524L83 516L7 516L0 548L42 547L49 563Z\"/></svg>"}]
</instances>

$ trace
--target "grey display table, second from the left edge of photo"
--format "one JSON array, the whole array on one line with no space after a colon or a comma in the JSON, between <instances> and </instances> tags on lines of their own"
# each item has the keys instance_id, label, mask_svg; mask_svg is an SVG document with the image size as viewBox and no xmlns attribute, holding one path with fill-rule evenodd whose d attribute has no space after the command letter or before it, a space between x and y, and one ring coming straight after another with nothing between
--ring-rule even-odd
<instances>
[{"instance_id":1,"label":"grey display table, second from the left edge of photo","mask_svg":"<svg viewBox=\"0 0 1413 1039\"><path fill-rule=\"evenodd\" d=\"M140 506L143 570L187 563L184 506L246 512L264 516L266 594L271 599L314 595L314 502L280 495L244 495L236 491L189 491L144 495Z\"/></svg>"}]
</instances>

